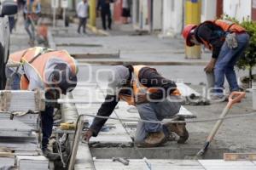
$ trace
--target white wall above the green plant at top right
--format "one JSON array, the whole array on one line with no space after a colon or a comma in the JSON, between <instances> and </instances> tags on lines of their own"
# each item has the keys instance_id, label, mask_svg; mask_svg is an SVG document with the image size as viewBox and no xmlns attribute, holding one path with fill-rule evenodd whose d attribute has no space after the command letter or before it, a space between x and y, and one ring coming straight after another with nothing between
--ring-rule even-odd
<instances>
[{"instance_id":1,"label":"white wall above the green plant at top right","mask_svg":"<svg viewBox=\"0 0 256 170\"><path fill-rule=\"evenodd\" d=\"M224 14L235 17L241 21L243 18L252 17L251 0L224 0Z\"/></svg>"}]
</instances>

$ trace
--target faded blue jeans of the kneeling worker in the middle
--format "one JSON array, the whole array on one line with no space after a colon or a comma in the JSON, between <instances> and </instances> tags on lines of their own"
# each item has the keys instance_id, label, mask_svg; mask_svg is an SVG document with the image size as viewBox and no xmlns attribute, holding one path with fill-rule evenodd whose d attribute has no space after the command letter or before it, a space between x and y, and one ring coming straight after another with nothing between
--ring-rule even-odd
<instances>
[{"instance_id":1,"label":"faded blue jeans of the kneeling worker in the middle","mask_svg":"<svg viewBox=\"0 0 256 170\"><path fill-rule=\"evenodd\" d=\"M163 102L149 102L136 105L136 107L143 120L162 121L166 117L175 116L179 112L181 105L178 102L165 99ZM143 142L150 132L164 132L167 134L167 129L160 123L138 122L135 142Z\"/></svg>"}]
</instances>

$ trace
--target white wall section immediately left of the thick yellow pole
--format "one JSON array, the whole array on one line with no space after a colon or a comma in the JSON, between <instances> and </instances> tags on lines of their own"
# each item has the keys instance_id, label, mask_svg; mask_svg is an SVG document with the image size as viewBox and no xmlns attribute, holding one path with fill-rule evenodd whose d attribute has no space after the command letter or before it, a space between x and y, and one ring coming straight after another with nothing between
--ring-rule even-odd
<instances>
[{"instance_id":1,"label":"white wall section immediately left of the thick yellow pole","mask_svg":"<svg viewBox=\"0 0 256 170\"><path fill-rule=\"evenodd\" d=\"M183 29L183 1L163 0L163 36L174 37Z\"/></svg>"}]
</instances>

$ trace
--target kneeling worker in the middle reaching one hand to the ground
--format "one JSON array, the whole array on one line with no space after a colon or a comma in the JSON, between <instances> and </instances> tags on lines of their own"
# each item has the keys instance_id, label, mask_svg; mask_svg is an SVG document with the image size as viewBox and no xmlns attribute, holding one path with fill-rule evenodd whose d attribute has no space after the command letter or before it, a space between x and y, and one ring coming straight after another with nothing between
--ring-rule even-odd
<instances>
[{"instance_id":1,"label":"kneeling worker in the middle reaching one hand to the ground","mask_svg":"<svg viewBox=\"0 0 256 170\"><path fill-rule=\"evenodd\" d=\"M162 121L173 117L180 110L180 97L175 82L160 76L146 65L116 65L111 68L108 78L108 90L97 116L110 116L119 100L135 105L141 119ZM178 119L178 120L183 120ZM84 139L96 137L107 119L95 118ZM178 143L183 144L189 133L184 123L138 122L135 143L140 147L156 147L165 144L172 132L179 136Z\"/></svg>"}]
</instances>

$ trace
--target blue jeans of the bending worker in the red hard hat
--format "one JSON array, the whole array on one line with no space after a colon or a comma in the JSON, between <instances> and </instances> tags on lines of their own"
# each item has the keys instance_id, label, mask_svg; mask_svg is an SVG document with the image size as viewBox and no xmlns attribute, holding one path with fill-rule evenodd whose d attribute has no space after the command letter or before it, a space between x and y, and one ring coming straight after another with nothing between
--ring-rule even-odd
<instances>
[{"instance_id":1,"label":"blue jeans of the bending worker in the red hard hat","mask_svg":"<svg viewBox=\"0 0 256 170\"><path fill-rule=\"evenodd\" d=\"M239 86L236 82L236 72L234 70L234 66L236 65L236 61L239 59L241 54L243 54L244 50L247 48L249 38L250 37L247 33L237 34L236 40L238 42L238 47L234 49L228 48L227 43L224 42L214 68L214 88L217 95L223 95L224 76L229 82L230 92L239 90Z\"/></svg>"}]
</instances>

